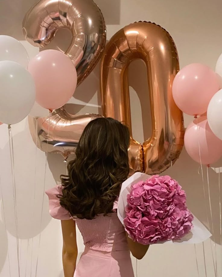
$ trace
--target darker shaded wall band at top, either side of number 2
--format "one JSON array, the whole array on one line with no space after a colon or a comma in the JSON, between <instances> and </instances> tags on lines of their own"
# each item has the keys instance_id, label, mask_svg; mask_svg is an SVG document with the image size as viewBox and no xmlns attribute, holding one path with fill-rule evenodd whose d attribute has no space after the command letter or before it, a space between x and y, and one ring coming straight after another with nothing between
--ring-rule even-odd
<instances>
[{"instance_id":1,"label":"darker shaded wall band at top, either side of number 2","mask_svg":"<svg viewBox=\"0 0 222 277\"><path fill-rule=\"evenodd\" d=\"M37 2L38 0L1 0L0 34L13 36L18 40L24 40L22 33L22 20L30 7ZM106 24L111 25L120 23L120 0L112 0L108 2L97 0L95 2L100 7Z\"/></svg>"}]
</instances>

